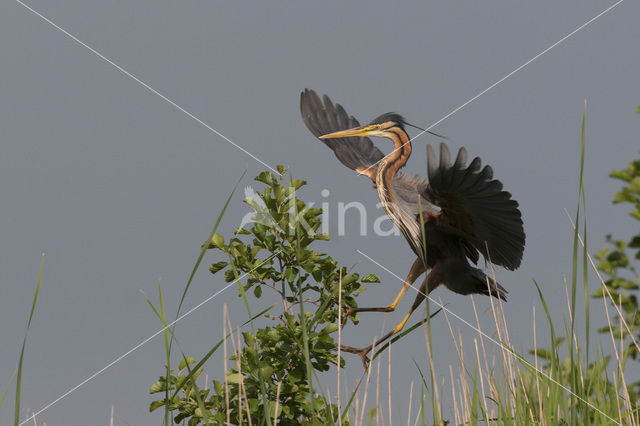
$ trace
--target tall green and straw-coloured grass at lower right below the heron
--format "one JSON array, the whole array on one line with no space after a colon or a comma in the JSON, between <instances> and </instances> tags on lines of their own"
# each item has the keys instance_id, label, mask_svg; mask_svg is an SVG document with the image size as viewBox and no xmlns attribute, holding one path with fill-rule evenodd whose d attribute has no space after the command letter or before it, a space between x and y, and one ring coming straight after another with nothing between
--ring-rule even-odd
<instances>
[{"instance_id":1,"label":"tall green and straw-coloured grass at lower right below the heron","mask_svg":"<svg viewBox=\"0 0 640 426\"><path fill-rule=\"evenodd\" d=\"M462 335L454 331L449 315L444 311L450 337L457 354L457 362L449 365L448 377L436 377L430 373L429 379L423 372L423 366L418 364L415 368L421 377L421 389L413 394L418 394L417 404L409 405L405 414L395 412L394 418L400 414L406 416L408 425L420 424L593 424L593 425L638 425L640 413L638 402L634 401L626 390L625 363L628 353L625 342L614 336L614 326L610 322L610 345L603 343L603 353L598 352L590 363L586 362L586 350L578 343L578 339L571 330L575 329L575 316L571 316L570 289L567 288L567 313L569 323L562 328L561 336L555 334L556 326L552 320L546 301L541 294L541 303L544 307L544 315L548 324L548 336L550 341L563 341L566 345L563 351L560 344L551 348L539 348L541 339L540 331L536 329L536 307L531 307L532 318L532 346L534 356L531 362L524 355L518 354L512 347L509 339L507 319L502 309L502 302L498 301L492 307L493 324L491 329L483 330L478 319L475 303L474 315L476 319L477 335L471 342L464 341ZM575 311L574 311L575 312ZM498 336L497 339L488 336ZM560 338L559 338L560 337ZM498 350L492 351L491 347L498 342ZM572 342L572 343L569 343ZM425 343L429 345L428 336L425 335ZM573 351L569 347L573 345ZM573 357L562 357L562 352L568 352ZM433 371L433 357L428 351L429 365ZM614 362L610 359L613 357ZM378 361L379 363L380 361ZM390 358L387 360L391 366ZM378 370L380 368L378 364ZM442 384L445 383L444 386ZM436 387L440 384L439 387ZM368 383L367 383L368 385ZM377 381L373 384L376 394L384 393L386 384L377 375ZM438 389L446 389L448 394L444 399L437 398ZM364 400L367 392L365 387L356 396L358 402ZM412 392L408 387L405 396ZM385 403L376 398L373 415L363 421L362 416L354 412L351 418L354 424L398 424L392 422L391 394L387 392ZM432 406L431 421L427 421L425 407ZM411 407L417 407L413 411ZM385 413L387 411L387 413Z\"/></svg>"}]
</instances>

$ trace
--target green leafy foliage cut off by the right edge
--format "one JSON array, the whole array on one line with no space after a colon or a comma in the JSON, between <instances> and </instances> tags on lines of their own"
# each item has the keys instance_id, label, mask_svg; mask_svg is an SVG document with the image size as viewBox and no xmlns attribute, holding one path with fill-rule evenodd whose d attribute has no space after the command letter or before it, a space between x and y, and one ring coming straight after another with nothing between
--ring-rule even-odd
<instances>
[{"instance_id":1,"label":"green leafy foliage cut off by the right edge","mask_svg":"<svg viewBox=\"0 0 640 426\"><path fill-rule=\"evenodd\" d=\"M640 159L629 163L627 169L614 170L611 172L612 178L623 182L622 188L615 194L614 203L630 204L630 216L640 221ZM635 228L638 229L638 228ZM629 331L640 339L640 310L638 309L637 291L640 285L640 276L634 266L640 260L640 232L633 235L630 233L622 239L614 239L607 235L609 247L600 250L596 254L598 269L606 277L605 285L611 293L613 300L622 308L622 319L629 327ZM605 297L606 291L600 287L594 297ZM628 335L626 327L620 327L621 318L616 317L616 324L613 327L614 337L624 338ZM601 332L609 333L609 327L604 327ZM639 359L637 347L630 342L627 350L631 357ZM636 384L640 390L640 382Z\"/></svg>"}]
</instances>

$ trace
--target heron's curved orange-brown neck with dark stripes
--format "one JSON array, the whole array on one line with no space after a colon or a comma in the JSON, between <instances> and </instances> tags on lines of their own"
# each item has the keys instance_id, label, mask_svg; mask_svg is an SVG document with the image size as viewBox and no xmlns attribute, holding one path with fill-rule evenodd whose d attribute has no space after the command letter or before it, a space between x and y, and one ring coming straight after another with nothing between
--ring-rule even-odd
<instances>
[{"instance_id":1,"label":"heron's curved orange-brown neck with dark stripes","mask_svg":"<svg viewBox=\"0 0 640 426\"><path fill-rule=\"evenodd\" d=\"M382 205L395 222L395 215L389 211L394 202L390 184L393 176L405 165L411 155L411 140L409 135L398 127L390 129L387 137L393 142L393 152L380 161L378 165L376 187Z\"/></svg>"}]
</instances>

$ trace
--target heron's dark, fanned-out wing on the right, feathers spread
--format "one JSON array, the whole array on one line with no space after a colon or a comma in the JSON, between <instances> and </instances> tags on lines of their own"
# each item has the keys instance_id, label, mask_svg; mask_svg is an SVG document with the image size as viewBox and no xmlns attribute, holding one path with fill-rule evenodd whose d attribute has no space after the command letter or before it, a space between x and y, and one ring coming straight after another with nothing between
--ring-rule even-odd
<instances>
[{"instance_id":1,"label":"heron's dark, fanned-out wing on the right, feathers spread","mask_svg":"<svg viewBox=\"0 0 640 426\"><path fill-rule=\"evenodd\" d=\"M442 210L439 222L469 235L470 243L491 263L516 269L522 261L525 234L518 202L493 179L490 166L476 157L466 165L460 148L453 164L449 148L440 144L440 161L427 144L429 184L424 196Z\"/></svg>"}]
</instances>

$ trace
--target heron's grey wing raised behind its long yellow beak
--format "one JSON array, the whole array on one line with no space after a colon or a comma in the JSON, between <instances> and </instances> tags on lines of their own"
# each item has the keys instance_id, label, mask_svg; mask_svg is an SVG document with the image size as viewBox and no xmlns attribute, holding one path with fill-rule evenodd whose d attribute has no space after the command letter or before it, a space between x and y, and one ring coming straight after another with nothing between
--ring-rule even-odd
<instances>
[{"instance_id":1,"label":"heron's grey wing raised behind its long yellow beak","mask_svg":"<svg viewBox=\"0 0 640 426\"><path fill-rule=\"evenodd\" d=\"M324 102L323 102L324 101ZM318 94L305 89L300 94L302 120L314 136L358 127L360 123L349 116L340 104L333 104L327 95L320 99ZM367 137L320 139L338 160L348 168L368 176L375 183L376 164L384 154Z\"/></svg>"}]
</instances>

